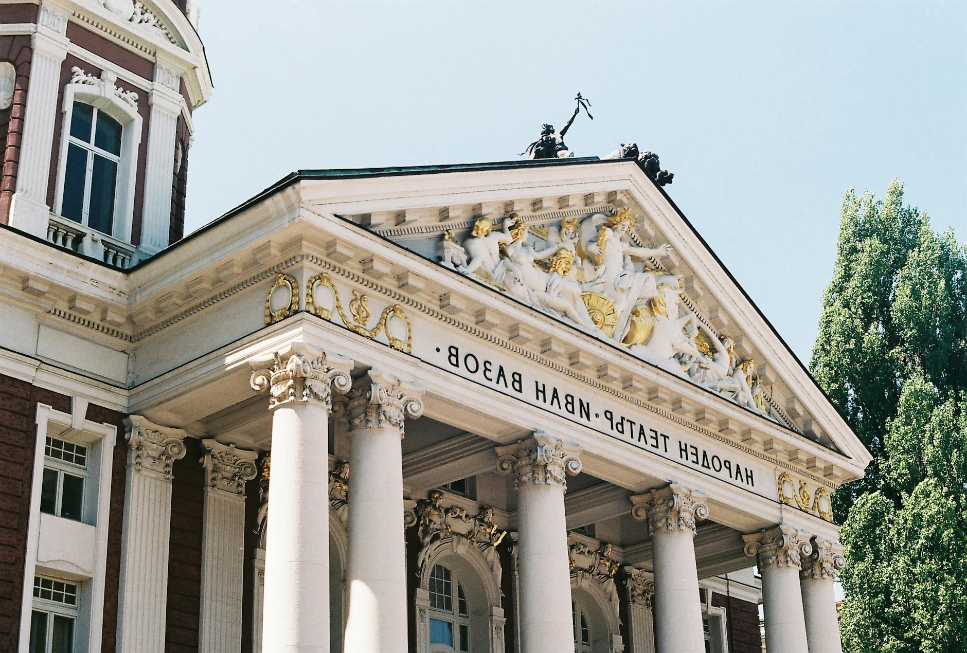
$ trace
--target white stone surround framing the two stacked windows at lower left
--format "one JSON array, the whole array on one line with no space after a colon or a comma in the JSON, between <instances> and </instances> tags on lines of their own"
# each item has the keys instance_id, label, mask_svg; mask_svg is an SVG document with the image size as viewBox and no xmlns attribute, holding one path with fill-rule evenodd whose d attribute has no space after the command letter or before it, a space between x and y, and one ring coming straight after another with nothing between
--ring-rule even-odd
<instances>
[{"instance_id":1,"label":"white stone surround framing the two stacked windows at lower left","mask_svg":"<svg viewBox=\"0 0 967 653\"><path fill-rule=\"evenodd\" d=\"M30 512L27 522L27 546L24 554L23 594L20 612L18 650L26 651L30 640L30 616L33 605L34 576L45 574L68 578L80 585L77 631L75 641L80 648L101 650L103 633L104 582L107 568L107 530L110 520L111 467L117 429L110 424L98 424L86 418L90 400L72 397L71 413L55 411L46 404L37 404L34 469L30 487ZM97 468L88 468L85 492L95 486L95 497L85 498L85 513L93 511L95 528L94 569L84 570L67 560L48 560L39 565L41 549L41 487L44 479L44 443L46 436L60 435L81 441L90 448L89 457ZM93 454L93 455L91 455ZM61 518L53 518L59 520Z\"/></svg>"}]
</instances>

